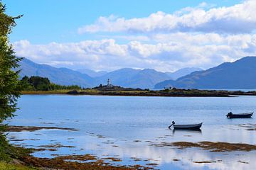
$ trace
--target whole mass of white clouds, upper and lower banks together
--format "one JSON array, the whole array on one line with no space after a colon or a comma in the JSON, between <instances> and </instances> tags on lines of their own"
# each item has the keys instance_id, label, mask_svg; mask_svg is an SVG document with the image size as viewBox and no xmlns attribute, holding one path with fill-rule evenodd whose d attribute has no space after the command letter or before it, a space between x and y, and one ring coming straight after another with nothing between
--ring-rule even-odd
<instances>
[{"instance_id":1,"label":"whole mass of white clouds, upper and lower banks together","mask_svg":"<svg viewBox=\"0 0 256 170\"><path fill-rule=\"evenodd\" d=\"M45 45L20 40L14 42L14 48L18 56L70 69L208 69L256 56L255 9L256 0L247 0L219 8L201 3L174 13L151 13L146 18L102 16L78 29L79 33L106 32L98 35L102 40Z\"/></svg>"}]
</instances>

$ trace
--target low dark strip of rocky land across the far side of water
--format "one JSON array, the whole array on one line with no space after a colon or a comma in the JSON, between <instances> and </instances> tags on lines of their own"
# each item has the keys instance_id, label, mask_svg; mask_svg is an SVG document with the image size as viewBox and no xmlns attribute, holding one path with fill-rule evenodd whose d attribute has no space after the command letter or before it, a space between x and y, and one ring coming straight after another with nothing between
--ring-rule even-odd
<instances>
[{"instance_id":1,"label":"low dark strip of rocky land across the far side of water","mask_svg":"<svg viewBox=\"0 0 256 170\"><path fill-rule=\"evenodd\" d=\"M80 89L80 90L54 90L54 91L22 91L22 94L65 94L65 95L91 95L91 96L164 96L164 97L231 97L256 96L256 91L223 91L198 89Z\"/></svg>"}]
</instances>

